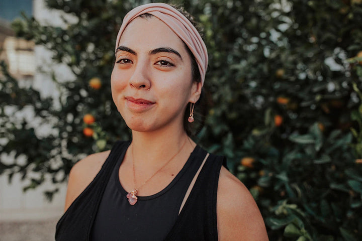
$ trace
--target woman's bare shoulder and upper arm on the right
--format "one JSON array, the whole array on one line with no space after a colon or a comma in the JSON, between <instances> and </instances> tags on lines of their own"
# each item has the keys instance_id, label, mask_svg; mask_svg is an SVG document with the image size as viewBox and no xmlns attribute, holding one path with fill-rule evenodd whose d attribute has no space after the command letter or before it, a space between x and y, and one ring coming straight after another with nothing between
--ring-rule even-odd
<instances>
[{"instance_id":1,"label":"woman's bare shoulder and upper arm on the right","mask_svg":"<svg viewBox=\"0 0 362 241\"><path fill-rule=\"evenodd\" d=\"M220 170L217 194L219 240L268 240L260 211L245 185L226 168Z\"/></svg>"}]
</instances>

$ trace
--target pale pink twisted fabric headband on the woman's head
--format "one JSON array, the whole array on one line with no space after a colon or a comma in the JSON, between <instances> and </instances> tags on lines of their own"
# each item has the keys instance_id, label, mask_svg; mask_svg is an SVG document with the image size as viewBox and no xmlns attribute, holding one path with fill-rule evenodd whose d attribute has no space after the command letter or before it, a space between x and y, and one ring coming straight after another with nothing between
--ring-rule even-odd
<instances>
[{"instance_id":1,"label":"pale pink twisted fabric headband on the woman's head","mask_svg":"<svg viewBox=\"0 0 362 241\"><path fill-rule=\"evenodd\" d=\"M127 25L138 16L146 13L155 16L165 23L189 47L199 66L201 83L204 85L208 65L206 45L194 25L182 13L167 4L145 4L128 12L117 35L116 50Z\"/></svg>"}]
</instances>

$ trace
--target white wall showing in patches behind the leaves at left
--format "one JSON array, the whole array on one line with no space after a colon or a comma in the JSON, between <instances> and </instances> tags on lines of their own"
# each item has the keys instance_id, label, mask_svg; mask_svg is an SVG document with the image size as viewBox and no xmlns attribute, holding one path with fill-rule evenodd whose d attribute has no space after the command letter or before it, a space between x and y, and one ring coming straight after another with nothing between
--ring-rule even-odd
<instances>
[{"instance_id":1,"label":"white wall showing in patches behind the leaves at left","mask_svg":"<svg viewBox=\"0 0 362 241\"><path fill-rule=\"evenodd\" d=\"M45 25L66 27L60 18L60 11L49 11L45 8L44 0L33 0L34 17ZM76 18L65 16L68 21L74 23ZM35 59L37 68L41 67L46 72L53 71L57 78L74 78L71 71L65 65L56 65L51 62L51 53L42 46L35 47ZM22 60L24 61L24 60ZM46 63L46 64L45 64ZM29 66L33 63L29 63ZM34 88L41 91L42 96L57 97L55 84L46 73L36 72L34 75ZM19 114L19 113L17 113ZM28 118L32 117L31 111L21 113ZM12 162L12 157L7 157ZM35 190L23 192L26 182L21 181L21 175L15 175L12 183L8 183L7 175L0 176L0 221L13 220L40 220L50 217L60 217L63 213L66 183L59 186L59 192L55 194L52 202L48 202L43 195L43 191L54 189L54 185L47 180L43 185Z\"/></svg>"}]
</instances>

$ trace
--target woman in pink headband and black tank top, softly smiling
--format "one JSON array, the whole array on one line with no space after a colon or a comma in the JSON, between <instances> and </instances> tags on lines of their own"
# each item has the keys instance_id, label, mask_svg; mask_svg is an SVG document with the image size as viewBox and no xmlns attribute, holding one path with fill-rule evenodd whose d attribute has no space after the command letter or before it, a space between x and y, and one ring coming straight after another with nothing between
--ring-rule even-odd
<instances>
[{"instance_id":1,"label":"woman in pink headband and black tank top, softly smiling","mask_svg":"<svg viewBox=\"0 0 362 241\"><path fill-rule=\"evenodd\" d=\"M184 126L207 62L200 34L173 7L126 15L111 87L132 141L74 165L56 240L267 240L248 190Z\"/></svg>"}]
</instances>

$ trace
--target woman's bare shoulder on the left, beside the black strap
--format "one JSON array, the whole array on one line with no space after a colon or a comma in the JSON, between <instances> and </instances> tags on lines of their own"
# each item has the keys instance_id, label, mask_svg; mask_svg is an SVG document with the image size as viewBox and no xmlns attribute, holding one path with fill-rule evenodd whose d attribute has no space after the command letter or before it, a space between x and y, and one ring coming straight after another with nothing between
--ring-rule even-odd
<instances>
[{"instance_id":1,"label":"woman's bare shoulder on the left, beside the black strap","mask_svg":"<svg viewBox=\"0 0 362 241\"><path fill-rule=\"evenodd\" d=\"M78 161L70 170L64 210L93 181L111 151L99 152Z\"/></svg>"}]
</instances>

